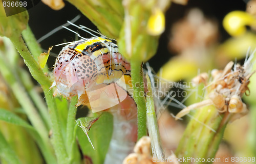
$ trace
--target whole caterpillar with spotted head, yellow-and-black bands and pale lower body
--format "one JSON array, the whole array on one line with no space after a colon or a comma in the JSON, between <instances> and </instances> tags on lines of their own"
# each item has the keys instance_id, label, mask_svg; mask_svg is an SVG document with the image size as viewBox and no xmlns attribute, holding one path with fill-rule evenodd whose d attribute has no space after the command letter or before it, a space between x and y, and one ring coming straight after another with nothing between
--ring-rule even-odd
<instances>
[{"instance_id":1,"label":"whole caterpillar with spotted head, yellow-and-black bands and pale lower body","mask_svg":"<svg viewBox=\"0 0 256 164\"><path fill-rule=\"evenodd\" d=\"M87 105L93 113L108 110L113 114L114 129L105 163L121 163L137 140L137 106L130 69L117 45L101 37L63 47L54 65L54 95L78 95L77 106Z\"/></svg>"}]
</instances>

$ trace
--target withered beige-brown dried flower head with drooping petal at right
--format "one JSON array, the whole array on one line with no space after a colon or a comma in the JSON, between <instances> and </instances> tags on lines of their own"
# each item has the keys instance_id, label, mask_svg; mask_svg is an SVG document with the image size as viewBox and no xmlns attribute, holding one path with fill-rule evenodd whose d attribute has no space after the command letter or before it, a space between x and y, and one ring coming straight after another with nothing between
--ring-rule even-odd
<instances>
[{"instance_id":1,"label":"withered beige-brown dried flower head with drooping petal at right","mask_svg":"<svg viewBox=\"0 0 256 164\"><path fill-rule=\"evenodd\" d=\"M205 85L208 91L208 98L199 103L187 106L177 114L176 119L183 117L195 108L207 105L214 105L219 113L246 114L248 110L245 103L242 102L241 97L244 94L248 96L250 93L248 88L248 84L250 83L249 78L254 73L254 71L251 72L252 58L253 55L246 59L244 65L229 62L224 70L212 70L212 81L208 83L206 82L205 73L195 77L193 81L196 81L197 84L201 82Z\"/></svg>"}]
</instances>

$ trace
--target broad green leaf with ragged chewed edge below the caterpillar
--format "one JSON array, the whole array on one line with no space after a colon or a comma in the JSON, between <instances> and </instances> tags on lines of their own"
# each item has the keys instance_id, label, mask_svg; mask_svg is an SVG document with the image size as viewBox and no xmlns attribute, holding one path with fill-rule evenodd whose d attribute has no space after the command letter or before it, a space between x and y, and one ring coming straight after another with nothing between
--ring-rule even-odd
<instances>
[{"instance_id":1,"label":"broad green leaf with ragged chewed edge below the caterpillar","mask_svg":"<svg viewBox=\"0 0 256 164\"><path fill-rule=\"evenodd\" d=\"M78 141L84 157L90 159L93 163L103 163L112 137L113 116L108 112L104 112L99 117L84 117L78 119L77 122L86 129L95 148L93 150L85 132L78 128Z\"/></svg>"}]
</instances>

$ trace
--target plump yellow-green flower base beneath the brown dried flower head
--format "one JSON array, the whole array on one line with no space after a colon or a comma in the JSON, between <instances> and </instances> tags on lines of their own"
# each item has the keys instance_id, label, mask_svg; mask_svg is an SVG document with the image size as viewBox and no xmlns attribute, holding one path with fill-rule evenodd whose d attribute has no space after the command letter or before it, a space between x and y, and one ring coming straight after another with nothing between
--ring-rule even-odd
<instances>
[{"instance_id":1,"label":"plump yellow-green flower base beneath the brown dried flower head","mask_svg":"<svg viewBox=\"0 0 256 164\"><path fill-rule=\"evenodd\" d=\"M219 114L214 105L198 109L189 121L179 146L178 158L214 158L223 138L229 114ZM183 163L190 163L186 161ZM204 162L195 162L204 163Z\"/></svg>"}]
</instances>

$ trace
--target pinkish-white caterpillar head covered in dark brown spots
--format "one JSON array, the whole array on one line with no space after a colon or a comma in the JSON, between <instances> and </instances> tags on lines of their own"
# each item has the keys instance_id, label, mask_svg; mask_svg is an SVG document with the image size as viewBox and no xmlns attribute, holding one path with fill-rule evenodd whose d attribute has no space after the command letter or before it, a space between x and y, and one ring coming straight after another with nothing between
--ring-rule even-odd
<instances>
[{"instance_id":1,"label":"pinkish-white caterpillar head covered in dark brown spots","mask_svg":"<svg viewBox=\"0 0 256 164\"><path fill-rule=\"evenodd\" d=\"M92 85L91 81L97 76L97 66L90 56L80 53L70 47L64 47L60 51L54 65L55 94L61 94L67 98L78 95L81 97L85 90Z\"/></svg>"}]
</instances>

